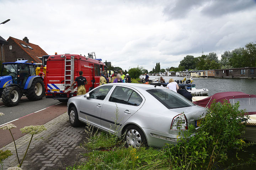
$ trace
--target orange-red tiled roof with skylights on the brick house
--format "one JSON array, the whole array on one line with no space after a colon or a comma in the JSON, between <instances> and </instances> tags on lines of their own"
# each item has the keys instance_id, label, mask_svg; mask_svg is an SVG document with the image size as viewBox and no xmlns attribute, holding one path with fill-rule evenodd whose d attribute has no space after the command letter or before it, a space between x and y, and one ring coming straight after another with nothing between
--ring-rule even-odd
<instances>
[{"instance_id":1,"label":"orange-red tiled roof with skylights on the brick house","mask_svg":"<svg viewBox=\"0 0 256 170\"><path fill-rule=\"evenodd\" d=\"M22 50L24 50L31 58L33 58L34 63L42 63L42 60L40 60L38 57L42 57L44 55L48 55L43 49L41 49L41 47L39 47L36 44L32 44L30 42L27 43L25 41L13 38L11 36L9 37L9 39L12 39L18 46L21 47ZM24 44L26 46L28 46L28 45L31 46L33 50L28 48L28 47L25 48L21 44Z\"/></svg>"}]
</instances>

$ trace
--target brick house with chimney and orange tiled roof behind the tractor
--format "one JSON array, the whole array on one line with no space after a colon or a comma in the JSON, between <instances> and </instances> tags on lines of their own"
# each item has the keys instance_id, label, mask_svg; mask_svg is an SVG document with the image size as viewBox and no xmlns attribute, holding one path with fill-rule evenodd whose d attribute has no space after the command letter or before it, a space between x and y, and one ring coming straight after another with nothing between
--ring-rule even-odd
<instances>
[{"instance_id":1,"label":"brick house with chimney and orange tiled roof behind the tractor","mask_svg":"<svg viewBox=\"0 0 256 170\"><path fill-rule=\"evenodd\" d=\"M28 63L32 61L34 63L42 63L38 57L48 55L41 47L36 44L32 44L25 36L23 40L19 40L13 37L7 39L9 45L4 46L4 62L15 62L17 60L28 60Z\"/></svg>"}]
</instances>

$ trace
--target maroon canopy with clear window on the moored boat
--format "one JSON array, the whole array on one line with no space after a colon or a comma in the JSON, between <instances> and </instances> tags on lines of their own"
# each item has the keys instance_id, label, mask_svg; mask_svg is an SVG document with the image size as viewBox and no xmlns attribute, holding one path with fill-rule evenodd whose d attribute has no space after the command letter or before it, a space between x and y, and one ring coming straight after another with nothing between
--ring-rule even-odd
<instances>
[{"instance_id":1,"label":"maroon canopy with clear window on the moored boat","mask_svg":"<svg viewBox=\"0 0 256 170\"><path fill-rule=\"evenodd\" d=\"M228 100L229 103L235 104L239 101L239 109L246 109L248 114L256 114L256 95L248 95L243 92L222 92L216 93L205 99L194 101L193 103L202 106L210 107L214 99L216 102L223 103L224 100Z\"/></svg>"}]
</instances>

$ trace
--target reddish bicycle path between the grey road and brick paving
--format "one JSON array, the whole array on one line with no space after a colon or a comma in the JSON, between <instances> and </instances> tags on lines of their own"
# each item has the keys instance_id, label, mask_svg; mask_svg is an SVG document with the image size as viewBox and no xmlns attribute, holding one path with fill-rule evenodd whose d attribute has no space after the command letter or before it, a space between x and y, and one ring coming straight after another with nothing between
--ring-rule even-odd
<instances>
[{"instance_id":1,"label":"reddish bicycle path between the grey road and brick paving","mask_svg":"<svg viewBox=\"0 0 256 170\"><path fill-rule=\"evenodd\" d=\"M11 129L12 135L14 136L14 140L26 135L21 133L21 128L30 125L46 124L48 121L57 118L59 115L65 113L66 111L66 103L60 103L57 105L50 106L42 111L28 114L24 117L19 118L18 120L11 122L15 126L17 126L17 128ZM10 131L0 129L0 148L4 147L5 145L11 142L13 142L13 140Z\"/></svg>"}]
</instances>

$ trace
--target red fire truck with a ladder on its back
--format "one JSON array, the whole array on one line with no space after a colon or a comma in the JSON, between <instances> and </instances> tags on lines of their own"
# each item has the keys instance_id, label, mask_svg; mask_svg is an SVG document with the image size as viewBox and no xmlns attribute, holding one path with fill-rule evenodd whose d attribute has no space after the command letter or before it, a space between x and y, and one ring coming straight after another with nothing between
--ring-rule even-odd
<instances>
[{"instance_id":1,"label":"red fire truck with a ladder on its back","mask_svg":"<svg viewBox=\"0 0 256 170\"><path fill-rule=\"evenodd\" d=\"M73 87L79 71L83 72L88 84L86 91L100 85L101 72L106 67L101 59L96 59L95 53L89 53L89 57L80 55L52 55L47 59L46 67L46 98L54 98L59 101L66 101L70 97L76 96L77 85Z\"/></svg>"}]
</instances>

